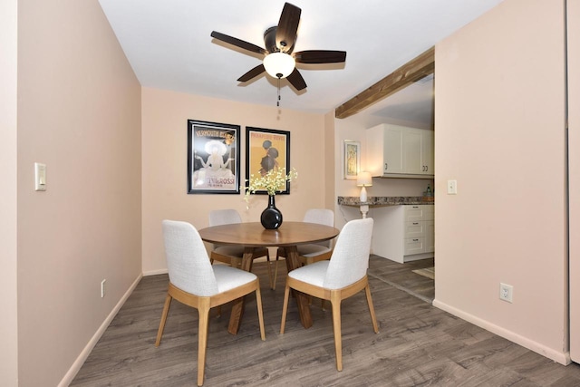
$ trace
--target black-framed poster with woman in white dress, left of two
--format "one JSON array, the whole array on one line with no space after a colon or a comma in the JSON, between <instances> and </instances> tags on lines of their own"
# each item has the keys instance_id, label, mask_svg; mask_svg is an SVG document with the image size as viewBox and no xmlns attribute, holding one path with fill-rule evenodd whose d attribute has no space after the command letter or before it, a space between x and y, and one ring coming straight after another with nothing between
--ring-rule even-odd
<instances>
[{"instance_id":1,"label":"black-framed poster with woman in white dress, left of two","mask_svg":"<svg viewBox=\"0 0 580 387\"><path fill-rule=\"evenodd\" d=\"M239 193L239 125L188 120L188 193Z\"/></svg>"}]
</instances>

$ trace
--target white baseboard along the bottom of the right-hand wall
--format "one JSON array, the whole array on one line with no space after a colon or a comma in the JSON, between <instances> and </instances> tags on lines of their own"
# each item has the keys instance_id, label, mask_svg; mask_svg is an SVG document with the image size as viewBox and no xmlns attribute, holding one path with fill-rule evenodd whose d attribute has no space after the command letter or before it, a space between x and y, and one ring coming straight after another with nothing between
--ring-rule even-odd
<instances>
[{"instance_id":1,"label":"white baseboard along the bottom of the right-hand wall","mask_svg":"<svg viewBox=\"0 0 580 387\"><path fill-rule=\"evenodd\" d=\"M521 345L530 351L534 351L535 353L539 353L542 356L546 356L548 359L553 360L556 363L563 365L568 365L571 363L569 352L558 352L553 348L548 348L542 343L537 343L527 337L502 328L501 326L491 324L486 320L476 317L473 314L465 313L462 310L442 303L437 299L433 300L433 306L436 306L445 312L449 312L450 314L456 315L471 324L478 325L480 328L483 328L492 334L498 334L498 336L501 336L510 342L517 343L518 345Z\"/></svg>"}]
</instances>

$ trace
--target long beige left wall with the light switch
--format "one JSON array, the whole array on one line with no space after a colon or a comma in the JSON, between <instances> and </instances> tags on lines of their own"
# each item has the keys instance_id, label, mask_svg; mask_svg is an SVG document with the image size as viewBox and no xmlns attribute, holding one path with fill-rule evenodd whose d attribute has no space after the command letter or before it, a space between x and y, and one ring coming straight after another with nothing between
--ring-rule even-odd
<instances>
[{"instance_id":1,"label":"long beige left wall with the light switch","mask_svg":"<svg viewBox=\"0 0 580 387\"><path fill-rule=\"evenodd\" d=\"M141 273L140 84L97 0L18 2L17 109L19 385L54 386Z\"/></svg>"}]
</instances>

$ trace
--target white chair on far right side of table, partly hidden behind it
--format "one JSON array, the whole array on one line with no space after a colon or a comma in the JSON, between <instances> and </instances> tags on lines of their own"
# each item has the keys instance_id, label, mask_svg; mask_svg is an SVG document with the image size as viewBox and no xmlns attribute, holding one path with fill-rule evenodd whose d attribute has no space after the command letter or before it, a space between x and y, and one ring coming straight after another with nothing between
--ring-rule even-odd
<instances>
[{"instance_id":1,"label":"white chair on far right side of table, partly hidden behind it","mask_svg":"<svg viewBox=\"0 0 580 387\"><path fill-rule=\"evenodd\" d=\"M304 213L303 222L317 223L324 226L334 226L334 212L327 208L310 208ZM330 259L333 254L333 241L324 240L322 242L298 245L298 259L303 265L310 265L314 262ZM284 247L278 247L275 253L274 280L272 289L275 289L275 282L278 277L278 261L280 257L285 257Z\"/></svg>"}]
</instances>

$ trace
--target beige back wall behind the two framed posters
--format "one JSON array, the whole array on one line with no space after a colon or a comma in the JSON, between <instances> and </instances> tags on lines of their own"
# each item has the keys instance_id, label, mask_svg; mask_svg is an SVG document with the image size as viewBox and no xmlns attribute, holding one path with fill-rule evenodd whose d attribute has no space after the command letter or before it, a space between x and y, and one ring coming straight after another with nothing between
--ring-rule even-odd
<instances>
[{"instance_id":1,"label":"beige back wall behind the two framed posters","mask_svg":"<svg viewBox=\"0 0 580 387\"><path fill-rule=\"evenodd\" d=\"M252 92L248 89L248 92ZM274 102L274 101L273 101ZM274 103L273 103L274 105ZM298 171L290 195L277 195L276 207L285 220L301 220L307 208L324 208L328 189L324 176L325 123L323 114L216 100L150 88L142 90L142 214L143 272L166 270L161 220L185 220L208 226L210 208L236 208L244 221L259 221L266 197L252 197L249 210L239 195L188 195L187 120L222 122L241 126L240 185L246 176L246 126L290 131L290 165Z\"/></svg>"}]
</instances>

